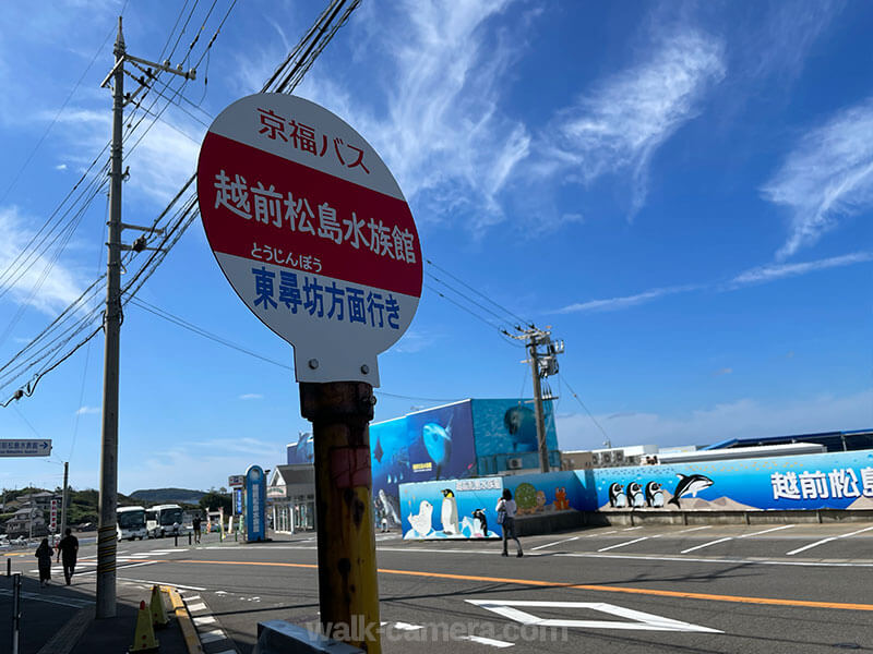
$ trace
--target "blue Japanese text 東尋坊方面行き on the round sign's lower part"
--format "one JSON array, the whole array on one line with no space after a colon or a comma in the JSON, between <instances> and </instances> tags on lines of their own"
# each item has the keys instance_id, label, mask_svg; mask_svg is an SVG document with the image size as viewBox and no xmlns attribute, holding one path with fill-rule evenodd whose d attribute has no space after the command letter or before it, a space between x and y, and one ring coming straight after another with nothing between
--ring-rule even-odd
<instances>
[{"instance_id":1,"label":"blue Japanese text \u6771\u5c0b\u574a\u65b9\u9762\u884c\u304d on the round sign's lower part","mask_svg":"<svg viewBox=\"0 0 873 654\"><path fill-rule=\"evenodd\" d=\"M277 294L276 272L266 266L252 268L255 307L282 311L279 304L284 304L292 314L301 310L319 318L360 323L380 329L400 327L400 305L391 293L385 296L373 291L364 292L364 289L349 283L337 284L335 280L319 283L315 275L302 275L302 283L298 283L297 272L279 270L278 274Z\"/></svg>"}]
</instances>

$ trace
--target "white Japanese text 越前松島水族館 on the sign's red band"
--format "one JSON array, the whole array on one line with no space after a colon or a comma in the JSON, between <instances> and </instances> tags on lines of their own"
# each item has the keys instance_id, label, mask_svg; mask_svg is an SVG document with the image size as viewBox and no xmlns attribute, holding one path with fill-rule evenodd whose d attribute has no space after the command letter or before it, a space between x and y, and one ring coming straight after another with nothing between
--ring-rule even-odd
<instances>
[{"instance_id":1,"label":"white Japanese text \u8d8a\u524d\u677e\u5cf6\u6c34\u65cf\u9928 on the sign's red band","mask_svg":"<svg viewBox=\"0 0 873 654\"><path fill-rule=\"evenodd\" d=\"M249 185L239 174L231 180L224 169L215 175L213 186L216 209L224 207L246 220L254 219L279 229L286 226L290 231L309 232L337 245L346 242L355 250L363 246L378 256L416 263L415 235L396 225L391 229L382 220L358 218L356 211L340 222L336 208L326 202L313 210L307 197L299 194L295 197L290 191L282 193L273 184Z\"/></svg>"}]
</instances>

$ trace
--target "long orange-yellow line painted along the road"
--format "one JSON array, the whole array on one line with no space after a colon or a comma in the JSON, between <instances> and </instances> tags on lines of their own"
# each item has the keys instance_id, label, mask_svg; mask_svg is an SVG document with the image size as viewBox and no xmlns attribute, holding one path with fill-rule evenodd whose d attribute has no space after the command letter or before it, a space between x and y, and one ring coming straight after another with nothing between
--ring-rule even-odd
<instances>
[{"instance_id":1,"label":"long orange-yellow line painted along the road","mask_svg":"<svg viewBox=\"0 0 873 654\"><path fill-rule=\"evenodd\" d=\"M215 566L266 566L279 568L318 569L315 564L287 564L275 561L208 561L196 559L159 559L163 564L210 564ZM562 583L536 579L513 579L504 577L482 577L478 574L451 574L447 572L423 572L420 570L393 570L379 568L382 574L402 574L406 577L428 577L431 579L452 579L456 581L485 581L489 583L514 583L518 585L571 589L577 591L597 591L605 593L629 593L633 595L656 595L659 597L681 597L683 600L708 600L710 602L733 602L738 604L765 604L770 606L794 606L804 608L837 608L842 610L871 610L873 604L850 604L842 602L814 602L810 600L781 600L778 597L749 597L742 595L714 595L710 593L685 593L682 591L660 591L657 589L639 589L630 586L612 586L583 583Z\"/></svg>"}]
</instances>

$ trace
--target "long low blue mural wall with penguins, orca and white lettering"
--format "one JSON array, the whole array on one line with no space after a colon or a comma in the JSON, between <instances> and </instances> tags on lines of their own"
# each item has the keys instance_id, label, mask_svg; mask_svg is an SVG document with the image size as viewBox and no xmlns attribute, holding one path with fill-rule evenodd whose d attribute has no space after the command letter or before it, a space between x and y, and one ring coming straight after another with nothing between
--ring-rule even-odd
<instances>
[{"instance_id":1,"label":"long low blue mural wall with penguins, orca and white lettering","mask_svg":"<svg viewBox=\"0 0 873 654\"><path fill-rule=\"evenodd\" d=\"M497 479L465 480L464 484L495 484L492 480ZM439 533L442 491L452 488L452 483L400 487L405 538L445 537ZM873 450L510 475L502 477L502 487L512 492L521 518L596 510L873 509ZM488 509L489 529L495 532L498 497L494 491L479 501ZM464 511L473 508L465 502ZM433 531L422 535L414 522L426 528L424 519L416 516L429 511Z\"/></svg>"}]
</instances>

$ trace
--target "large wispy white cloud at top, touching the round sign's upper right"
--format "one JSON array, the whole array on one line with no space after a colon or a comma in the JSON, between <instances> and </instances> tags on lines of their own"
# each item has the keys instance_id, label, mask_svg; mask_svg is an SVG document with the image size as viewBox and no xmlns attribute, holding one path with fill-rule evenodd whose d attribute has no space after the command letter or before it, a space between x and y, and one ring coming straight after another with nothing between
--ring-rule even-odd
<instances>
[{"instance_id":1,"label":"large wispy white cloud at top, touching the round sign's upper right","mask_svg":"<svg viewBox=\"0 0 873 654\"><path fill-rule=\"evenodd\" d=\"M499 108L524 48L524 26L509 36L486 27L510 4L410 0L397 11L363 12L358 21L372 39L370 65L387 55L379 108L361 106L324 76L310 76L300 88L361 132L408 199L441 219L465 210L464 225L474 232L502 220L498 195L530 145L525 125ZM524 23L522 12L515 16Z\"/></svg>"}]
</instances>

